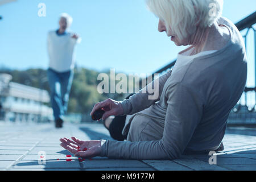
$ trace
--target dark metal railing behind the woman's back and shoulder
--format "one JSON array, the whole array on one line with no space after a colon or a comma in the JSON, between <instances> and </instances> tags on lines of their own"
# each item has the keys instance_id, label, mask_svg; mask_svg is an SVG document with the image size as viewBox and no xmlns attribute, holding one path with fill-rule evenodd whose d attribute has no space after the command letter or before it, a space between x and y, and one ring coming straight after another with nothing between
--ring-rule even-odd
<instances>
[{"instance_id":1,"label":"dark metal railing behind the woman's back and shoulder","mask_svg":"<svg viewBox=\"0 0 256 182\"><path fill-rule=\"evenodd\" d=\"M249 113L255 113L255 111L256 111L256 108L255 108L256 107L256 30L253 27L253 25L255 23L256 23L256 11L253 14L251 14L251 15L247 16L246 18L242 19L240 22L236 23L236 27L238 28L239 31L246 30L246 34L243 35L243 39L245 40L246 50L247 50L247 35L249 34L250 30L253 30L253 32L254 32L255 87L250 88L250 87L246 86L245 90L242 94L242 96L245 98L245 105L241 104L241 98L242 98L241 97L240 101L238 101L237 105L232 110L233 114L236 114L238 112L243 112L243 113L247 112L248 115L250 115L250 118L252 119L250 121L253 121L254 123L256 122L256 121L254 121L254 119L256 118L256 115L254 115L254 114L251 115ZM175 63L176 63L176 60L172 61L170 64L166 65L165 67L160 68L158 71L156 71L152 74L152 77L154 77L155 73L163 74L164 72L167 72L169 69L174 67ZM247 105L247 94L250 93L250 92L255 93L255 104L254 104L254 106L248 106ZM246 111L245 111L245 108L246 108Z\"/></svg>"}]
</instances>

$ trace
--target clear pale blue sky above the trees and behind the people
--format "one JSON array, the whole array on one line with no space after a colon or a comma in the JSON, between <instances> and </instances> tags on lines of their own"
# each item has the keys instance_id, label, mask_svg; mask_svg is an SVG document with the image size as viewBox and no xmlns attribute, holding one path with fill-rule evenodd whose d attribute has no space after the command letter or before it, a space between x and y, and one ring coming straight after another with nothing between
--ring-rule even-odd
<instances>
[{"instance_id":1,"label":"clear pale blue sky above the trees and behind the people","mask_svg":"<svg viewBox=\"0 0 256 182\"><path fill-rule=\"evenodd\" d=\"M46 4L46 17L38 16L39 3ZM224 0L223 16L236 23L255 7L255 0ZM47 32L57 29L63 12L73 16L71 30L82 38L76 47L80 67L151 73L185 48L175 46L165 33L158 32L158 19L146 9L144 0L18 0L0 6L0 65L46 69ZM252 32L249 39L253 40ZM247 53L249 86L254 85L252 43L249 40Z\"/></svg>"}]
</instances>

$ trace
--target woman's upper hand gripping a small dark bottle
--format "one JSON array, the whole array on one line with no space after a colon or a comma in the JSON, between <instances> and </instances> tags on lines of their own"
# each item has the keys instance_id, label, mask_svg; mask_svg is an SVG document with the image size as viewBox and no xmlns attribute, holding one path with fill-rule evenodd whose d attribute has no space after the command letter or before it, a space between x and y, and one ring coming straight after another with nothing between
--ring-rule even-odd
<instances>
[{"instance_id":1,"label":"woman's upper hand gripping a small dark bottle","mask_svg":"<svg viewBox=\"0 0 256 182\"><path fill-rule=\"evenodd\" d=\"M114 101L108 98L105 101L98 102L94 105L93 110L90 112L90 115L94 113L94 111L103 108L105 113L102 116L102 119L106 119L110 117L110 115L123 115L123 107L119 101Z\"/></svg>"}]
</instances>

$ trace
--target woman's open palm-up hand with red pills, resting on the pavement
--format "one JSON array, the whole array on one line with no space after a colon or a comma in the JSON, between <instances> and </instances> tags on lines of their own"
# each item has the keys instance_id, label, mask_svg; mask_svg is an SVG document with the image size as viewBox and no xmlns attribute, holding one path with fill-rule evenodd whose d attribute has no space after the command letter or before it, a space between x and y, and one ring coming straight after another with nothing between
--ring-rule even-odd
<instances>
[{"instance_id":1,"label":"woman's open palm-up hand with red pills, resting on the pavement","mask_svg":"<svg viewBox=\"0 0 256 182\"><path fill-rule=\"evenodd\" d=\"M60 139L60 146L82 158L93 158L101 154L101 140L82 141L76 137Z\"/></svg>"}]
</instances>

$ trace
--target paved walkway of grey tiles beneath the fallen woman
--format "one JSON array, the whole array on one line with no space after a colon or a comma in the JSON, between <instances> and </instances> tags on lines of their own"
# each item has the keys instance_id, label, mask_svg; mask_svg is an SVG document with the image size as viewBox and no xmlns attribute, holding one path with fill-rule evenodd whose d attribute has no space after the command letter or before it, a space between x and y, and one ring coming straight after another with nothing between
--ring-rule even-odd
<instances>
[{"instance_id":1,"label":"paved walkway of grey tiles beneath the fallen woman","mask_svg":"<svg viewBox=\"0 0 256 182\"><path fill-rule=\"evenodd\" d=\"M246 131L246 130L245 130ZM209 164L208 155L183 155L176 160L123 160L96 157L79 162L76 157L67 162L70 154L59 146L59 138L72 137L110 139L108 131L98 123L65 125L55 129L52 124L24 125L0 122L0 170L256 170L256 130L249 134L233 134L224 138L225 151L216 155L217 164ZM44 151L46 164L38 159ZM59 160L57 160L59 159Z\"/></svg>"}]
</instances>

